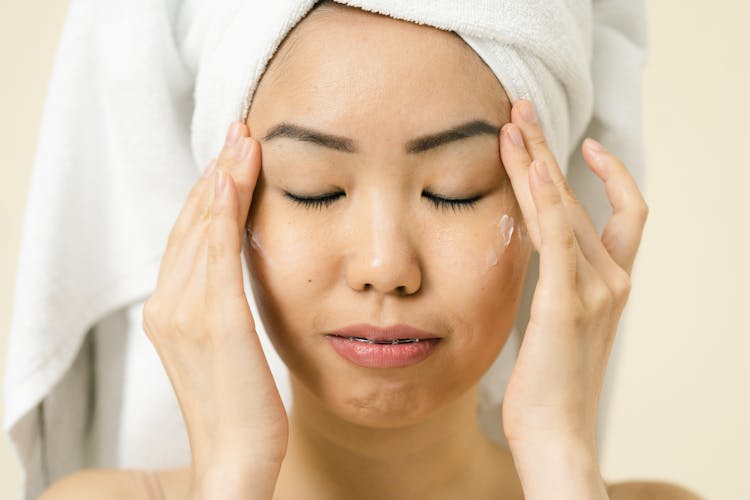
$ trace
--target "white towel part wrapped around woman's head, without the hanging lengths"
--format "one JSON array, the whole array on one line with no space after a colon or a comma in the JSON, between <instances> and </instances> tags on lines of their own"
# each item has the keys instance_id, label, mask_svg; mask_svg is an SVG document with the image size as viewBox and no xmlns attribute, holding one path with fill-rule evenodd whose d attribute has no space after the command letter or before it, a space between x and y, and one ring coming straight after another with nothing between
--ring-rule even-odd
<instances>
[{"instance_id":1,"label":"white towel part wrapped around woman's head, without the hanging lengths","mask_svg":"<svg viewBox=\"0 0 750 500\"><path fill-rule=\"evenodd\" d=\"M495 73L511 102L531 100L552 151L565 170L591 119L592 8L582 0L403 2L336 0L418 24L453 31ZM214 22L200 51L193 114L196 164L205 165L224 141L226 126L244 121L276 49L315 6L279 0L258 8L239 2ZM450 75L446 75L450 78Z\"/></svg>"}]
</instances>

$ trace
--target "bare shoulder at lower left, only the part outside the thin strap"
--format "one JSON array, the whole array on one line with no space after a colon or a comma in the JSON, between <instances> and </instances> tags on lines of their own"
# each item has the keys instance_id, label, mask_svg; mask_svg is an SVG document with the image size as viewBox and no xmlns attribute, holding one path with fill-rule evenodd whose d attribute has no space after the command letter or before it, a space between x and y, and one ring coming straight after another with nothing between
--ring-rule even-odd
<instances>
[{"instance_id":1,"label":"bare shoulder at lower left, only the part outside the thin strap","mask_svg":"<svg viewBox=\"0 0 750 500\"><path fill-rule=\"evenodd\" d=\"M146 500L133 471L85 469L55 482L39 500Z\"/></svg>"}]
</instances>

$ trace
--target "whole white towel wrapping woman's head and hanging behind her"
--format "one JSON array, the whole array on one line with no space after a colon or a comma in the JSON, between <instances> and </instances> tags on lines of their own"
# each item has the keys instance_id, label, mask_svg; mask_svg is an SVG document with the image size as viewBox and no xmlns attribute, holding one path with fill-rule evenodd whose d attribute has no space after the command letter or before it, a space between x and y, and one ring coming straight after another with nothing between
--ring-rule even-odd
<instances>
[{"instance_id":1,"label":"whole white towel wrapping woman's head and hanging behind her","mask_svg":"<svg viewBox=\"0 0 750 500\"><path fill-rule=\"evenodd\" d=\"M265 64L313 3L71 2L23 223L5 376L4 429L26 472L25 498L82 466L189 460L140 307L199 169L218 151L228 122L244 116ZM600 229L609 204L578 153L584 133L642 179L641 1L340 3L457 31L512 100L536 103ZM482 422L498 442L499 403L535 265L512 337L482 381ZM258 324L289 406L286 368ZM611 364L616 356L615 345Z\"/></svg>"}]
</instances>

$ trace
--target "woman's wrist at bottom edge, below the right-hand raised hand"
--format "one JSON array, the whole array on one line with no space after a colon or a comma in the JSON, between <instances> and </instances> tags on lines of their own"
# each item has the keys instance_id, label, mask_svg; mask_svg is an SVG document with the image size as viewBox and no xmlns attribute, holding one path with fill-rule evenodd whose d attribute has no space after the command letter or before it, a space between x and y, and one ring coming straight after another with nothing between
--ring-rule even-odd
<instances>
[{"instance_id":1,"label":"woman's wrist at bottom edge, below the right-hand raised hand","mask_svg":"<svg viewBox=\"0 0 750 500\"><path fill-rule=\"evenodd\" d=\"M560 436L509 447L527 500L609 498L594 442Z\"/></svg>"}]
</instances>

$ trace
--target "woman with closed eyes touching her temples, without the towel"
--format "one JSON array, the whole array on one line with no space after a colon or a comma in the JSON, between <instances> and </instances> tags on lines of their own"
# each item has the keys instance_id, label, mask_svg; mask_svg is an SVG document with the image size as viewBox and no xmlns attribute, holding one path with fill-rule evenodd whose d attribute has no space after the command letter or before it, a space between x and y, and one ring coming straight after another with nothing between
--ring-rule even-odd
<instances>
[{"instance_id":1,"label":"woman with closed eyes touching her temples, without the towel","mask_svg":"<svg viewBox=\"0 0 750 500\"><path fill-rule=\"evenodd\" d=\"M583 154L613 206L601 240L532 104L511 107L460 38L315 10L192 189L144 308L192 466L156 482L84 471L43 498L697 498L601 478L597 399L648 210L616 157L591 140ZM477 384L532 250L505 449L478 427ZM289 415L241 254L292 375Z\"/></svg>"}]
</instances>

